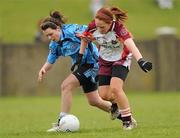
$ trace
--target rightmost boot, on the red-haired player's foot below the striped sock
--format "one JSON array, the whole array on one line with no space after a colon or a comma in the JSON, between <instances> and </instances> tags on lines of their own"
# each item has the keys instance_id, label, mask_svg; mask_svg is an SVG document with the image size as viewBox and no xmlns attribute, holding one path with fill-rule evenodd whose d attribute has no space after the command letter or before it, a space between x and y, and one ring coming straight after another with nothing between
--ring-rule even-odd
<instances>
[{"instance_id":1,"label":"rightmost boot, on the red-haired player's foot below the striped sock","mask_svg":"<svg viewBox=\"0 0 180 138\"><path fill-rule=\"evenodd\" d=\"M123 122L123 129L124 130L131 130L137 127L136 120L132 117L131 121L124 121Z\"/></svg>"}]
</instances>

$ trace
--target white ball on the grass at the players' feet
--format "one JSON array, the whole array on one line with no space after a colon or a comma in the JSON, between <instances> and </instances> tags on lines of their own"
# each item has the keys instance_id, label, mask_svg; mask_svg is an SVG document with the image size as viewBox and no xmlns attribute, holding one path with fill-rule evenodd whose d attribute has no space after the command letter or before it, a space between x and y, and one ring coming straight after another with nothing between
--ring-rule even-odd
<instances>
[{"instance_id":1,"label":"white ball on the grass at the players' feet","mask_svg":"<svg viewBox=\"0 0 180 138\"><path fill-rule=\"evenodd\" d=\"M79 130L79 119L72 114L65 115L59 122L59 127L62 132L74 132Z\"/></svg>"}]
</instances>

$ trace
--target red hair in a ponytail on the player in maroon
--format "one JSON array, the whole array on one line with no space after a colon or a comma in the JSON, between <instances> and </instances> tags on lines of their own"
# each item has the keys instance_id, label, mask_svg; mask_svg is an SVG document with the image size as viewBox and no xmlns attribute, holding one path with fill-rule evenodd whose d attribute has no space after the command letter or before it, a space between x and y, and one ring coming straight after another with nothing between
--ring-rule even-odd
<instances>
[{"instance_id":1,"label":"red hair in a ponytail on the player in maroon","mask_svg":"<svg viewBox=\"0 0 180 138\"><path fill-rule=\"evenodd\" d=\"M125 22L125 20L127 20L127 17L127 12L117 7L103 7L97 11L95 16L95 18L103 20L108 24L111 23L113 20Z\"/></svg>"}]
</instances>

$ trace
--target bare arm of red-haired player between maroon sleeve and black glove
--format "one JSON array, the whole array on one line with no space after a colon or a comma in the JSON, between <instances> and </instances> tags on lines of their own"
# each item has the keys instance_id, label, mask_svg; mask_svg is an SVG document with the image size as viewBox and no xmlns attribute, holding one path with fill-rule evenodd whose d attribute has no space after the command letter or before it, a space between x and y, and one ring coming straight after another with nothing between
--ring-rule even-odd
<instances>
[{"instance_id":1,"label":"bare arm of red-haired player between maroon sleeve and black glove","mask_svg":"<svg viewBox=\"0 0 180 138\"><path fill-rule=\"evenodd\" d=\"M132 38L129 38L124 41L124 44L128 47L128 49L132 52L135 59L138 61L142 58L141 53L139 52L139 49L136 47L136 44L134 43Z\"/></svg>"}]
</instances>

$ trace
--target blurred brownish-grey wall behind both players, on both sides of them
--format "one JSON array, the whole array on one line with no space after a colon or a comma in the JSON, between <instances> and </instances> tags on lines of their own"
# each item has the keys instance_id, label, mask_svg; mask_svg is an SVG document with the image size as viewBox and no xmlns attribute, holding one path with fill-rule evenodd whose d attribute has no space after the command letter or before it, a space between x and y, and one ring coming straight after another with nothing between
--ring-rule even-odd
<instances>
[{"instance_id":1,"label":"blurred brownish-grey wall behind both players, on both sides of them","mask_svg":"<svg viewBox=\"0 0 180 138\"><path fill-rule=\"evenodd\" d=\"M152 61L153 70L144 73L133 59L126 91L179 91L180 40L174 35L162 35L136 44L144 58ZM71 62L59 58L39 84L37 75L47 54L47 44L0 44L0 95L57 95L70 73Z\"/></svg>"}]
</instances>

